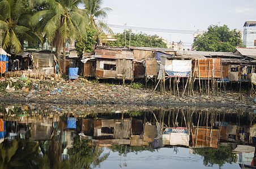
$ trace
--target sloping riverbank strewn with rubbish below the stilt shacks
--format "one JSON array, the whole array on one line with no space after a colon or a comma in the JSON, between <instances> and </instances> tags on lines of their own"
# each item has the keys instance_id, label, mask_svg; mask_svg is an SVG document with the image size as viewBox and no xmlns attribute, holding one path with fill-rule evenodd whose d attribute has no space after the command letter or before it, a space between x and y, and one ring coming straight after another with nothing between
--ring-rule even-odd
<instances>
[{"instance_id":1,"label":"sloping riverbank strewn with rubbish below the stilt shacks","mask_svg":"<svg viewBox=\"0 0 256 169\"><path fill-rule=\"evenodd\" d=\"M9 86L6 88L4 83ZM6 78L2 79L1 85L0 101L6 104L82 105L84 107L123 107L126 109L168 108L170 106L256 109L254 97L236 92L178 97L168 93L162 95L158 91L97 83L86 79L78 79L78 83L75 84L64 79L53 82L28 78Z\"/></svg>"}]
</instances>

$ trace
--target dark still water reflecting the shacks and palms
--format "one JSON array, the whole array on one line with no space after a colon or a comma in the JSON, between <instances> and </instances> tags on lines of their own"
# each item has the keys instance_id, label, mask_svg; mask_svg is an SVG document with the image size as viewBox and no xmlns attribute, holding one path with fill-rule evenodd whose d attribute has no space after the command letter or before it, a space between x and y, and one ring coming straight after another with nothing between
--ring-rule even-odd
<instances>
[{"instance_id":1,"label":"dark still water reflecting the shacks and palms","mask_svg":"<svg viewBox=\"0 0 256 169\"><path fill-rule=\"evenodd\" d=\"M1 105L2 168L240 168L254 110Z\"/></svg>"}]
</instances>

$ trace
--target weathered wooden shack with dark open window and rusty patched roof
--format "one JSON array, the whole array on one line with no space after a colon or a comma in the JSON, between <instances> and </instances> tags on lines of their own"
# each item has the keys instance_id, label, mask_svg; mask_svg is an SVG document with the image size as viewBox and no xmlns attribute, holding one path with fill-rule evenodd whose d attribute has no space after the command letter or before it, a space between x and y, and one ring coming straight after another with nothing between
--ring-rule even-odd
<instances>
[{"instance_id":1,"label":"weathered wooden shack with dark open window and rusty patched roof","mask_svg":"<svg viewBox=\"0 0 256 169\"><path fill-rule=\"evenodd\" d=\"M127 48L98 47L95 50L98 78L133 79L133 52Z\"/></svg>"}]
</instances>

